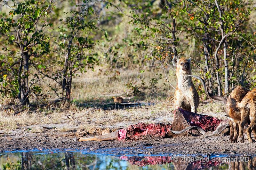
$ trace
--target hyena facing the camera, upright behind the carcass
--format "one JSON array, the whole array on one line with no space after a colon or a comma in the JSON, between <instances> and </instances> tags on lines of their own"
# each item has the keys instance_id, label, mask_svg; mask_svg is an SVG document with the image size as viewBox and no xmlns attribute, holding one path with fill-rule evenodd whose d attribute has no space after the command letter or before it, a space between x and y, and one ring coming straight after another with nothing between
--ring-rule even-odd
<instances>
[{"instance_id":1,"label":"hyena facing the camera, upright behind the carcass","mask_svg":"<svg viewBox=\"0 0 256 170\"><path fill-rule=\"evenodd\" d=\"M172 64L176 67L177 87L174 94L174 109L178 107L196 113L199 95L191 81L190 59L173 57Z\"/></svg>"}]
</instances>

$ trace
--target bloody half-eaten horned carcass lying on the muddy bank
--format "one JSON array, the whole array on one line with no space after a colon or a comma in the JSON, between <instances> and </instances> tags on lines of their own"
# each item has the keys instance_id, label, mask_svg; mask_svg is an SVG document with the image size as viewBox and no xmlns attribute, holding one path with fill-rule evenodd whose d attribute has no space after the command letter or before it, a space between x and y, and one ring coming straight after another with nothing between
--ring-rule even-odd
<instances>
[{"instance_id":1,"label":"bloody half-eaten horned carcass lying on the muddy bank","mask_svg":"<svg viewBox=\"0 0 256 170\"><path fill-rule=\"evenodd\" d=\"M192 129L198 130L205 136L219 135L228 127L228 120L191 113L181 108L174 111L172 125L164 123L137 123L128 128L120 129L106 135L96 137L75 138L78 141L106 141L106 140L138 140L149 138L166 138L180 135L195 134ZM196 133L197 134L197 133Z\"/></svg>"}]
</instances>

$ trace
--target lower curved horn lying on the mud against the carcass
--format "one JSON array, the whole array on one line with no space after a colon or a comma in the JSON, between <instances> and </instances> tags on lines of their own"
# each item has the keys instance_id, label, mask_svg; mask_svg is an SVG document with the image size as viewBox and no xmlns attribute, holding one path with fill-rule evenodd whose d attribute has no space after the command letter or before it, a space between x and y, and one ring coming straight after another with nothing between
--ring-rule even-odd
<instances>
[{"instance_id":1,"label":"lower curved horn lying on the mud against the carcass","mask_svg":"<svg viewBox=\"0 0 256 170\"><path fill-rule=\"evenodd\" d=\"M184 133L184 132L187 132L187 131L190 130L190 129L195 129L195 130L197 130L198 132L200 132L200 133L201 133L202 135L204 135L204 136L212 137L212 136L217 136L217 135L219 135L224 129L228 128L228 126L229 126L229 125L228 125L227 123L221 124L221 125L219 125L218 128L217 128L216 130L214 130L213 132L206 132L204 129L202 129L202 128L199 127L199 126L189 126L189 127L185 128L185 129L183 129L183 130L180 130L180 131L171 130L171 132L174 133L174 134L180 135L180 134L182 134L182 133Z\"/></svg>"}]
</instances>

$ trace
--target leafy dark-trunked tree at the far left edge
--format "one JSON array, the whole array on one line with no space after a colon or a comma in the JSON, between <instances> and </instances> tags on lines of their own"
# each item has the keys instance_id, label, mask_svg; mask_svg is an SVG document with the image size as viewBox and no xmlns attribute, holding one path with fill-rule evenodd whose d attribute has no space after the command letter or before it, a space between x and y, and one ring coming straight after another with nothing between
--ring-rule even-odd
<instances>
[{"instance_id":1,"label":"leafy dark-trunked tree at the far left edge","mask_svg":"<svg viewBox=\"0 0 256 170\"><path fill-rule=\"evenodd\" d=\"M2 1L10 9L9 14L1 13L0 34L4 37L1 55L0 92L2 95L18 97L20 105L29 105L31 93L40 93L38 73L32 68L42 69L40 57L49 52L49 37L46 28L52 26L48 15L52 1L14 1L13 5Z\"/></svg>"}]
</instances>

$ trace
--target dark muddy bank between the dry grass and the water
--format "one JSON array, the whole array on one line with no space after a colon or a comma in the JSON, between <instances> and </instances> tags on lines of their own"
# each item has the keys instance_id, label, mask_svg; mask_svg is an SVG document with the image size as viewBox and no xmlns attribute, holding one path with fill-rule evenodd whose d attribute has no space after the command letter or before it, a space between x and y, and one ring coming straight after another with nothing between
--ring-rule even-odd
<instances>
[{"instance_id":1,"label":"dark muddy bank between the dry grass and the water","mask_svg":"<svg viewBox=\"0 0 256 170\"><path fill-rule=\"evenodd\" d=\"M87 135L88 136L88 135ZM238 154L255 155L256 143L230 143L229 135L215 137L187 136L138 141L75 142L76 132L44 129L40 133L16 129L0 130L0 151L31 149L82 149L104 154Z\"/></svg>"}]
</instances>

